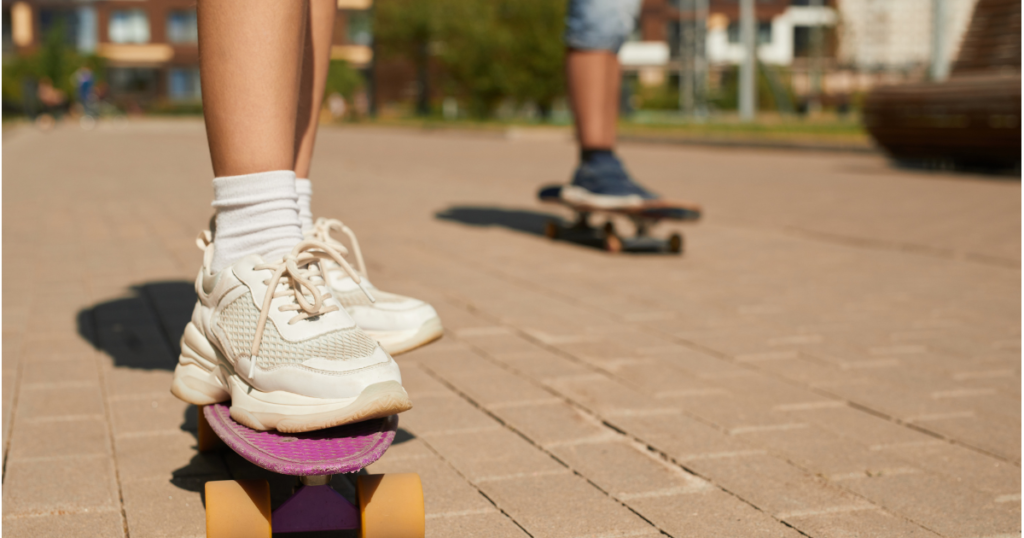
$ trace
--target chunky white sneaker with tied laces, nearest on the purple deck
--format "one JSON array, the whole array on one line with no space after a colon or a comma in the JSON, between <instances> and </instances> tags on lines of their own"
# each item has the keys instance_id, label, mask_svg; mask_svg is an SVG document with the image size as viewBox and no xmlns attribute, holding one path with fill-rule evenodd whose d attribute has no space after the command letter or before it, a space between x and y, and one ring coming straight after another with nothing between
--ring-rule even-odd
<instances>
[{"instance_id":1,"label":"chunky white sneaker with tied laces, nearest on the purple deck","mask_svg":"<svg viewBox=\"0 0 1024 538\"><path fill-rule=\"evenodd\" d=\"M260 430L308 431L412 409L398 365L325 285L329 259L358 278L340 253L303 241L284 259L247 256L214 275L210 233L198 243L199 301L181 337L174 396L230 400L231 418Z\"/></svg>"}]
</instances>

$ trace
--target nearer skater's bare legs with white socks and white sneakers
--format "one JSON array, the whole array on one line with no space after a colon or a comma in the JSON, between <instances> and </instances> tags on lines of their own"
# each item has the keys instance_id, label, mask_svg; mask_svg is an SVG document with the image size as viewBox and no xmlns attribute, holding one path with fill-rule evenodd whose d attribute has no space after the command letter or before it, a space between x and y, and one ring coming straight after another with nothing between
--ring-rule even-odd
<instances>
[{"instance_id":1,"label":"nearer skater's bare legs with white socks and white sneakers","mask_svg":"<svg viewBox=\"0 0 1024 538\"><path fill-rule=\"evenodd\" d=\"M430 304L370 284L352 231L310 209L336 11L336 0L198 2L216 214L198 241L198 301L171 392L230 400L231 417L254 429L411 409L390 354L442 333Z\"/></svg>"}]
</instances>

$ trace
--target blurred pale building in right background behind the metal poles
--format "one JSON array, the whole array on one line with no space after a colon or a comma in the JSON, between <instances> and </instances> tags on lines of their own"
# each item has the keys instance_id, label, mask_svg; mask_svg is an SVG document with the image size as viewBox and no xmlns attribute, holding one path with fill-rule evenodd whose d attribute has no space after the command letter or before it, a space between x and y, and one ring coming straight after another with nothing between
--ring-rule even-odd
<instances>
[{"instance_id":1,"label":"blurred pale building in right background behind the metal poles","mask_svg":"<svg viewBox=\"0 0 1024 538\"><path fill-rule=\"evenodd\" d=\"M932 16L935 0L757 0L758 59L782 73L798 97L811 91L811 71L822 72L825 97L844 101L879 83L920 80L932 56ZM708 81L715 87L724 71L743 58L739 36L738 0L705 0L708 6L702 46L687 43L696 35L698 0L645 0L634 39L623 47L627 73L641 84L663 84L686 61L701 54ZM950 46L944 61L951 63L967 30L977 0L945 0L941 29ZM821 31L815 54L813 32Z\"/></svg>"}]
</instances>

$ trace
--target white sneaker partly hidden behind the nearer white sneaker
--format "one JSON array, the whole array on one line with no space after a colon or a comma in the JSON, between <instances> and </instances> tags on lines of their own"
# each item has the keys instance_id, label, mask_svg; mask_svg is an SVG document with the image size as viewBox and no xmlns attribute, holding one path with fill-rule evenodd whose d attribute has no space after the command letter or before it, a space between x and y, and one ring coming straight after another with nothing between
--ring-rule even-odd
<instances>
[{"instance_id":1,"label":"white sneaker partly hidden behind the nearer white sneaker","mask_svg":"<svg viewBox=\"0 0 1024 538\"><path fill-rule=\"evenodd\" d=\"M327 262L328 283L335 298L348 311L355 324L376 339L391 355L426 345L444 334L441 319L430 304L412 297L381 291L367 279L367 265L355 234L340 220L317 218L313 230L306 232L306 238L331 245L342 253L348 249L331 237L332 232L348 236L355 256L355 264L361 277L362 286L369 288L376 301L370 300L340 265Z\"/></svg>"}]
</instances>

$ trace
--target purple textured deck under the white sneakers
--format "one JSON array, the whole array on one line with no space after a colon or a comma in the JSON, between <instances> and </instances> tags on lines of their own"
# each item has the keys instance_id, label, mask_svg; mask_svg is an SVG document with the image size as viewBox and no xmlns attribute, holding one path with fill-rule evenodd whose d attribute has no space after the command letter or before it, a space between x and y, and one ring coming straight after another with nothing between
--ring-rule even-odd
<instances>
[{"instance_id":1,"label":"purple textured deck under the white sneakers","mask_svg":"<svg viewBox=\"0 0 1024 538\"><path fill-rule=\"evenodd\" d=\"M302 433L257 431L231 418L225 404L203 408L210 427L243 458L274 472L297 477L355 472L377 461L394 441L391 415Z\"/></svg>"}]
</instances>

